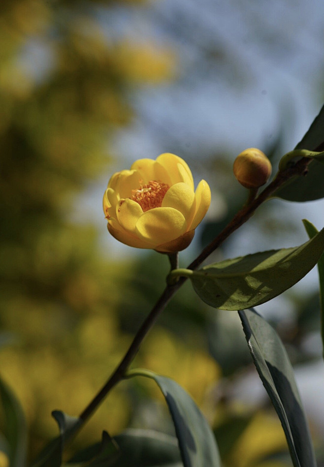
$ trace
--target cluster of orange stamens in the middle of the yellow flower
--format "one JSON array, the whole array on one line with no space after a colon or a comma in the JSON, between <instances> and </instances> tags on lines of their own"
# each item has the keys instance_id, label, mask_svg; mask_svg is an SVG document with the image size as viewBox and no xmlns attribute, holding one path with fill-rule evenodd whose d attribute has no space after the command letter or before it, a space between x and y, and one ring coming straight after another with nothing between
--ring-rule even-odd
<instances>
[{"instance_id":1,"label":"cluster of orange stamens in the middle of the yellow flower","mask_svg":"<svg viewBox=\"0 0 324 467\"><path fill-rule=\"evenodd\" d=\"M140 188L131 190L131 199L136 201L142 210L161 208L165 193L170 188L166 183L151 180L147 185L139 183Z\"/></svg>"}]
</instances>

